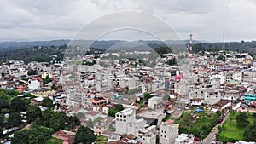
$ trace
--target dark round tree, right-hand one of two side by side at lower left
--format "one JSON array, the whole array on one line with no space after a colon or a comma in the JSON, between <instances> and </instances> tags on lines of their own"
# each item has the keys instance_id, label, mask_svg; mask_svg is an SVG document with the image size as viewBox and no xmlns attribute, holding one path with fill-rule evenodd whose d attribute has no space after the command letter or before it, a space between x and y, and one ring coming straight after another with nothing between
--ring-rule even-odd
<instances>
[{"instance_id":1,"label":"dark round tree, right-hand one of two side by side at lower left","mask_svg":"<svg viewBox=\"0 0 256 144\"><path fill-rule=\"evenodd\" d=\"M41 109L38 106L30 106L27 108L26 118L27 122L34 122L37 118L42 117Z\"/></svg>"}]
</instances>

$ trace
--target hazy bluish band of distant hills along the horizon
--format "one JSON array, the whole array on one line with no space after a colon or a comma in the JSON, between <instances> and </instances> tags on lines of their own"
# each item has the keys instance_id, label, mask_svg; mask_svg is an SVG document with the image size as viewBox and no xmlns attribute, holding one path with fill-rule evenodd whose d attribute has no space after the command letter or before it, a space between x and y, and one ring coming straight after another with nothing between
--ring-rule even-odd
<instances>
[{"instance_id":1,"label":"hazy bluish band of distant hills along the horizon","mask_svg":"<svg viewBox=\"0 0 256 144\"><path fill-rule=\"evenodd\" d=\"M52 41L33 41L33 42L0 42L0 50L8 51L14 49L22 49L22 48L33 48L34 46L55 46L59 47L61 45L68 45L71 41L66 40L52 40ZM100 40L100 41L92 41L92 40L74 40L72 43L75 43L77 46L90 45L92 43L92 48L97 49L108 49L117 43L126 43L124 40ZM189 40L168 40L168 41L158 41L158 40L138 40L134 41L136 43L147 44L151 48L157 48L160 46L165 46L166 44L172 43L173 45L178 44L188 44ZM193 47L199 48L201 50L204 49L222 49L222 42L210 43L207 41L198 41L193 40ZM256 41L251 42L226 42L225 49L239 51L239 52L248 52L251 55L256 55Z\"/></svg>"}]
</instances>

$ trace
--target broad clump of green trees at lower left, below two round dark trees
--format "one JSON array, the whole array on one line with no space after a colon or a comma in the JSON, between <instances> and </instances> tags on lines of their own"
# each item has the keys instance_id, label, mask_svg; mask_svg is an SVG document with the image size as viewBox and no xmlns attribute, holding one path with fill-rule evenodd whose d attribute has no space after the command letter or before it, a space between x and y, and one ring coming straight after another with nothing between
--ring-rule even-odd
<instances>
[{"instance_id":1,"label":"broad clump of green trees at lower left, below two round dark trees","mask_svg":"<svg viewBox=\"0 0 256 144\"><path fill-rule=\"evenodd\" d=\"M29 107L28 110L36 111L36 107ZM74 126L79 125L79 119L75 117L68 117L65 112L53 112L45 110L38 118L29 118L32 121L32 128L29 130L21 130L15 132L12 143L45 143L53 133L58 130L70 130ZM20 141L19 141L20 140Z\"/></svg>"}]
</instances>

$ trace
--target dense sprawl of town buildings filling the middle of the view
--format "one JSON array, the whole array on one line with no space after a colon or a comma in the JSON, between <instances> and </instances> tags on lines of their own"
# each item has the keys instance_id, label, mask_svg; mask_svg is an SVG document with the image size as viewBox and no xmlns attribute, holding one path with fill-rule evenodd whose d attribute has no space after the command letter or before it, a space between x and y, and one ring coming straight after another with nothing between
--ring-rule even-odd
<instances>
[{"instance_id":1,"label":"dense sprawl of town buildings filling the middle of the view","mask_svg":"<svg viewBox=\"0 0 256 144\"><path fill-rule=\"evenodd\" d=\"M212 112L256 107L256 62L247 53L170 54L154 59L154 67L137 59L113 60L112 66L105 67L101 60L106 55L76 59L96 61L94 65L75 65L71 60L55 64L11 60L0 66L0 88L48 96L67 114L82 113L84 124L101 118L93 130L96 135L108 136L109 143L152 144L158 135L160 143L189 144L195 136L179 134L179 125L172 120L162 122L166 115L179 118L189 107L203 104ZM181 55L188 57L178 60ZM219 55L226 59L218 60ZM173 57L177 65L166 64ZM37 73L28 75L32 70ZM46 78L51 80L45 84ZM142 107L137 101L143 100L145 92L153 97L143 101L147 107ZM116 104L125 110L115 118L108 117L108 110Z\"/></svg>"}]
</instances>

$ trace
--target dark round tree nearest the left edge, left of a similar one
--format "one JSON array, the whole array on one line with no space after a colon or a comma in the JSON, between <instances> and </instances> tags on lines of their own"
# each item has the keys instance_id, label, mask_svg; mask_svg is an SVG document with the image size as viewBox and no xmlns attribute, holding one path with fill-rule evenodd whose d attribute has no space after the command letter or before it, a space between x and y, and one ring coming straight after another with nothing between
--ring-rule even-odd
<instances>
[{"instance_id":1,"label":"dark round tree nearest the left edge, left of a similar one","mask_svg":"<svg viewBox=\"0 0 256 144\"><path fill-rule=\"evenodd\" d=\"M20 99L20 97L15 97L10 105L9 110L11 112L25 112L26 111L26 101Z\"/></svg>"}]
</instances>

